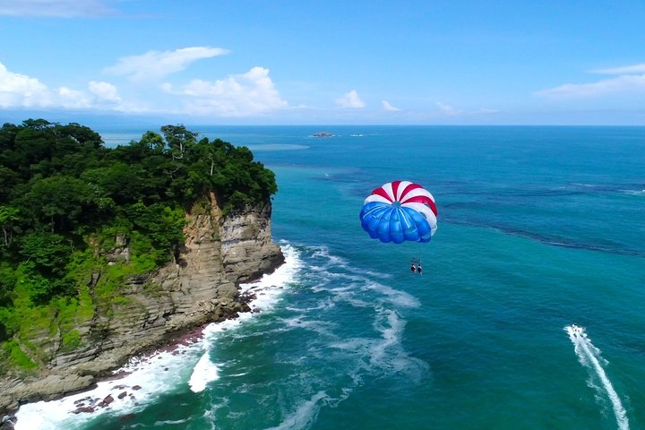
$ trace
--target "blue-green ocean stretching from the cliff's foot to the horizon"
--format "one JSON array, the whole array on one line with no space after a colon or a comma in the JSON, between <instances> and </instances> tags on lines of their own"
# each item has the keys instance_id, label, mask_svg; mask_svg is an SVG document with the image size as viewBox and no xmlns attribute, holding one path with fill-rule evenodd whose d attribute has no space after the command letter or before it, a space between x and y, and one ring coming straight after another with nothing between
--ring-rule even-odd
<instances>
[{"instance_id":1,"label":"blue-green ocean stretching from the cliff's foot to the horizon","mask_svg":"<svg viewBox=\"0 0 645 430\"><path fill-rule=\"evenodd\" d=\"M24 405L16 428L645 428L645 127L187 128L276 173L287 262L243 286L260 312ZM429 243L361 228L393 180L433 193Z\"/></svg>"}]
</instances>

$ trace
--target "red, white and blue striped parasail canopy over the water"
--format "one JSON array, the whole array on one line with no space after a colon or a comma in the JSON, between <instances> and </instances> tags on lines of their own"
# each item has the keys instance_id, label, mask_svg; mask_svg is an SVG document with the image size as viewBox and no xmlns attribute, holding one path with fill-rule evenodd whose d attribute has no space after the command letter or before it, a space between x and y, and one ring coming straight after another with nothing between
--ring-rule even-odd
<instances>
[{"instance_id":1,"label":"red, white and blue striped parasail canopy over the water","mask_svg":"<svg viewBox=\"0 0 645 430\"><path fill-rule=\"evenodd\" d=\"M369 236L381 242L430 242L437 228L437 209L433 195L421 185L394 181L366 198L360 220Z\"/></svg>"}]
</instances>

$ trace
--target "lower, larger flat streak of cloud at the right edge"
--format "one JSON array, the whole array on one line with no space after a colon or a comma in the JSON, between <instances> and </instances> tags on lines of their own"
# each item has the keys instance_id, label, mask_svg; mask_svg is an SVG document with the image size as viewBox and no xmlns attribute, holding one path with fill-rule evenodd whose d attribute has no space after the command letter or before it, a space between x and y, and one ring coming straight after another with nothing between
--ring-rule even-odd
<instances>
[{"instance_id":1,"label":"lower, larger flat streak of cloud at the right edge","mask_svg":"<svg viewBox=\"0 0 645 430\"><path fill-rule=\"evenodd\" d=\"M645 74L625 74L590 83L566 83L559 87L537 91L540 97L552 99L596 97L645 90Z\"/></svg>"}]
</instances>

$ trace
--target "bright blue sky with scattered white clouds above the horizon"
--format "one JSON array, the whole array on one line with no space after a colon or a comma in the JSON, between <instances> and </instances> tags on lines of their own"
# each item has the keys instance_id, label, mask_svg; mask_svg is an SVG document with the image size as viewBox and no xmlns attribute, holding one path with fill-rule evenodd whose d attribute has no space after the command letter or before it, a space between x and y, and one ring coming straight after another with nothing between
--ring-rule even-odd
<instances>
[{"instance_id":1,"label":"bright blue sky with scattered white clouds above the horizon","mask_svg":"<svg viewBox=\"0 0 645 430\"><path fill-rule=\"evenodd\" d=\"M0 121L645 125L643 22L642 0L0 0Z\"/></svg>"}]
</instances>

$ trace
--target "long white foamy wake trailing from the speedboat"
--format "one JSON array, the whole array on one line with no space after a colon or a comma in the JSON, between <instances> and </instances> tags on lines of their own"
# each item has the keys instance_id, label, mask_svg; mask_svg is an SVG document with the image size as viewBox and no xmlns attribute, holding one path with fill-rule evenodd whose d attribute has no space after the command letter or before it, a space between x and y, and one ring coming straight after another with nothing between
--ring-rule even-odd
<instances>
[{"instance_id":1,"label":"long white foamy wake trailing from the speedboat","mask_svg":"<svg viewBox=\"0 0 645 430\"><path fill-rule=\"evenodd\" d=\"M596 348L591 343L591 340L589 340L589 337L587 336L587 332L582 327L578 327L574 324L572 326L564 327L564 331L569 334L569 339L573 342L574 351L578 356L578 360L581 365L594 372L602 384L607 397L612 403L618 428L620 430L629 430L627 412L623 407L620 397L614 389L614 385L612 385L606 375L605 368L603 366L606 366L608 362L600 355L600 349ZM589 382L589 386L591 388L598 389L597 394L598 396L600 395L601 391L598 385L593 382Z\"/></svg>"}]
</instances>

